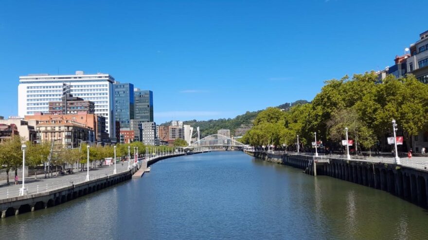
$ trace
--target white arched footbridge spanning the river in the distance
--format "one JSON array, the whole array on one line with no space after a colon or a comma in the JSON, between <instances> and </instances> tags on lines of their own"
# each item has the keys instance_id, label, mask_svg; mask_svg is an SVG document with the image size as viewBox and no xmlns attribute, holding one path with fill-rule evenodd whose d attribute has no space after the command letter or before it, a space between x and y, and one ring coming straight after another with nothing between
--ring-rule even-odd
<instances>
[{"instance_id":1,"label":"white arched footbridge spanning the river in the distance","mask_svg":"<svg viewBox=\"0 0 428 240\"><path fill-rule=\"evenodd\" d=\"M230 137L221 135L221 134L212 134L210 136L204 137L196 141L193 144L190 144L187 148L208 148L208 149L232 149L232 148L246 148L248 145L242 144L236 140L233 140Z\"/></svg>"}]
</instances>

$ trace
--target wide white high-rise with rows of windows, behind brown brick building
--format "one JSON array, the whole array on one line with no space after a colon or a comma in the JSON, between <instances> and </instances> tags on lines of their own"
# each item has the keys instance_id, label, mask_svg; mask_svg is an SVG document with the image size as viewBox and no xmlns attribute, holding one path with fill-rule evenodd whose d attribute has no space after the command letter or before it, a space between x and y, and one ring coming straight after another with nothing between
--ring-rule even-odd
<instances>
[{"instance_id":1,"label":"wide white high-rise with rows of windows, behind brown brick building","mask_svg":"<svg viewBox=\"0 0 428 240\"><path fill-rule=\"evenodd\" d=\"M116 142L114 116L114 78L109 74L74 75L29 74L19 77L18 115L34 115L49 112L50 101L61 101L63 84L70 85L70 93L95 103L95 114L106 117L106 131L112 142Z\"/></svg>"}]
</instances>

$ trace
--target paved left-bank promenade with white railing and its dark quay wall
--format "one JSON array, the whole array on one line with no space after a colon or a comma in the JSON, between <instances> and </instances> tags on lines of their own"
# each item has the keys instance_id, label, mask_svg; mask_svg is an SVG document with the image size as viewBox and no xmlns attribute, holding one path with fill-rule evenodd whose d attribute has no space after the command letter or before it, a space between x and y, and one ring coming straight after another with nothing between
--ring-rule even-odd
<instances>
[{"instance_id":1,"label":"paved left-bank promenade with white railing and its dark quay wall","mask_svg":"<svg viewBox=\"0 0 428 240\"><path fill-rule=\"evenodd\" d=\"M151 158L139 159L137 163L116 163L117 173L113 174L114 164L102 166L89 170L89 180L86 180L87 171L78 172L65 176L54 176L51 178L25 179L26 194L20 196L19 185L2 185L0 187L0 217L5 218L24 212L38 209L50 208L55 205L73 200L77 197L96 192L110 187L119 182L131 179L140 168L155 163L156 161L185 155L177 152L165 155L153 156ZM13 182L11 182L13 184ZM3 183L4 184L4 183Z\"/></svg>"}]
</instances>

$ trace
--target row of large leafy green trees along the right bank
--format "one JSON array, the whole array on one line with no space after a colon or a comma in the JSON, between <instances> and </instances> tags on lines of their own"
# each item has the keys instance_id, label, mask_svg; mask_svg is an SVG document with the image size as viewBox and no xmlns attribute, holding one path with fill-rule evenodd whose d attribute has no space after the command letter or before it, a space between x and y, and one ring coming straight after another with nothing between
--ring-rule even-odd
<instances>
[{"instance_id":1,"label":"row of large leafy green trees along the right bank","mask_svg":"<svg viewBox=\"0 0 428 240\"><path fill-rule=\"evenodd\" d=\"M328 80L310 103L286 112L277 108L260 112L241 141L295 149L297 136L301 147L310 147L316 132L318 141L333 149L340 147L348 128L357 150L370 151L381 139L392 136L395 119L405 147L411 149L411 137L427 130L428 85L413 75L400 79L388 75L382 83L377 80L375 72Z\"/></svg>"}]
</instances>

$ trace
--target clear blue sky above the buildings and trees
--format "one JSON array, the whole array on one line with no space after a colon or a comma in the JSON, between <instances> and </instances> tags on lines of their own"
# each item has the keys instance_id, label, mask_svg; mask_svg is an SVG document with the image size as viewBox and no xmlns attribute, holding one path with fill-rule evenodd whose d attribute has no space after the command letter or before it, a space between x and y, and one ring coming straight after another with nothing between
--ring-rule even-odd
<instances>
[{"instance_id":1,"label":"clear blue sky above the buildings and trees","mask_svg":"<svg viewBox=\"0 0 428 240\"><path fill-rule=\"evenodd\" d=\"M83 70L154 92L155 121L234 117L393 65L423 0L0 1L0 115L18 76Z\"/></svg>"}]
</instances>

